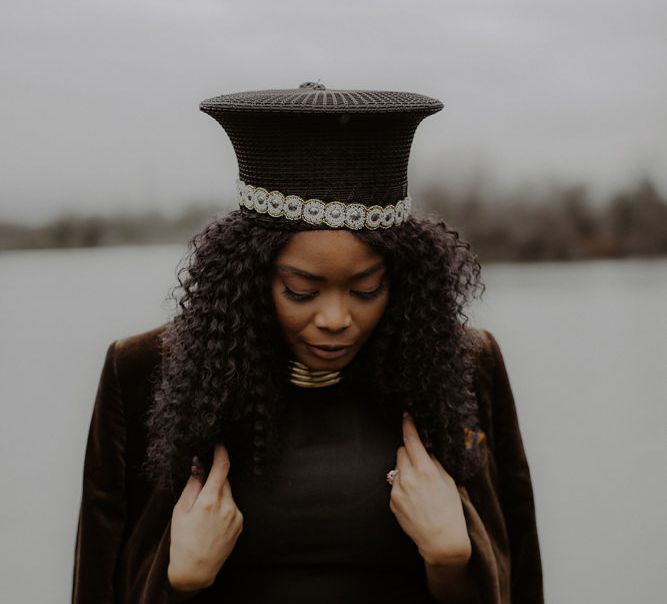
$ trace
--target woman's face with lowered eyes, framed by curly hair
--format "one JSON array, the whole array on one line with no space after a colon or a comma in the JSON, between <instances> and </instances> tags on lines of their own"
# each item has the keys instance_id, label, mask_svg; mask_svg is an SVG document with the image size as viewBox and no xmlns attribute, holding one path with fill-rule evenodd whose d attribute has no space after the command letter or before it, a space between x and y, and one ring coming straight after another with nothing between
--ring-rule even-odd
<instances>
[{"instance_id":1,"label":"woman's face with lowered eyes, framed by curly hair","mask_svg":"<svg viewBox=\"0 0 667 604\"><path fill-rule=\"evenodd\" d=\"M349 231L300 231L276 258L282 333L310 369L338 370L368 339L389 300L382 256Z\"/></svg>"}]
</instances>

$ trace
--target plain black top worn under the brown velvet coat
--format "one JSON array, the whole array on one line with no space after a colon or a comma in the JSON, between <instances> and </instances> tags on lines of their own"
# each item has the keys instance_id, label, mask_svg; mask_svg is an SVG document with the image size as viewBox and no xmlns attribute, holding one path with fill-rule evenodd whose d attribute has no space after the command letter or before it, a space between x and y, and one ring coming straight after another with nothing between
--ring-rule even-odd
<instances>
[{"instance_id":1,"label":"plain black top worn under the brown velvet coat","mask_svg":"<svg viewBox=\"0 0 667 604\"><path fill-rule=\"evenodd\" d=\"M424 562L389 509L401 424L345 380L290 386L280 419L284 449L274 487L230 468L244 516L212 601L434 602ZM213 595L213 594L212 594Z\"/></svg>"}]
</instances>

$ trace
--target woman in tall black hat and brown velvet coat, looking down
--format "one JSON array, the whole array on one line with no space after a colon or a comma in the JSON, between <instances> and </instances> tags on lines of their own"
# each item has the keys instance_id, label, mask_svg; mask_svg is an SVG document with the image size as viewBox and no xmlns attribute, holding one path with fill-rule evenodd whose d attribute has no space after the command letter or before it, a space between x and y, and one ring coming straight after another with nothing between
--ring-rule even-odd
<instances>
[{"instance_id":1,"label":"woman in tall black hat and brown velvet coat, looking down","mask_svg":"<svg viewBox=\"0 0 667 604\"><path fill-rule=\"evenodd\" d=\"M407 196L442 104L306 83L201 108L240 209L192 240L178 315L109 346L73 602L541 602L502 356L466 327L480 267Z\"/></svg>"}]
</instances>

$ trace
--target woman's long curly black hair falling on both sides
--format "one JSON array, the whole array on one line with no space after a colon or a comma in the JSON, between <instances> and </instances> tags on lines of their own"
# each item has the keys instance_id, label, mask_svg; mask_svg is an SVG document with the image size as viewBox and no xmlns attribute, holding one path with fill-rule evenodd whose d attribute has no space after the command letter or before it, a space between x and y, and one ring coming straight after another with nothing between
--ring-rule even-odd
<instances>
[{"instance_id":1,"label":"woman's long curly black hair falling on both sides","mask_svg":"<svg viewBox=\"0 0 667 604\"><path fill-rule=\"evenodd\" d=\"M221 441L253 480L268 480L280 450L276 425L290 358L271 276L293 232L236 210L190 240L147 418L142 469L159 486L176 492L193 455L210 462ZM465 313L484 291L477 256L432 216L351 232L383 256L390 287L383 316L351 364L363 367L368 393L380 404L411 413L426 449L462 481L481 463L464 444L464 428L478 427Z\"/></svg>"}]
</instances>

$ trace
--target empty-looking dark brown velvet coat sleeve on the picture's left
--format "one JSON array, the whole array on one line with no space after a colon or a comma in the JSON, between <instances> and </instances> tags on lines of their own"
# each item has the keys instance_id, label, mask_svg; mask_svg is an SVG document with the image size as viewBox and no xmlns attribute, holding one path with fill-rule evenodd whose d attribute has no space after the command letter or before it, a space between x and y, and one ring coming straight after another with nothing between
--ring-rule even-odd
<instances>
[{"instance_id":1,"label":"empty-looking dark brown velvet coat sleeve on the picture's left","mask_svg":"<svg viewBox=\"0 0 667 604\"><path fill-rule=\"evenodd\" d=\"M73 604L115 604L115 572L126 518L123 402L107 349L93 406L83 467L74 553Z\"/></svg>"}]
</instances>

